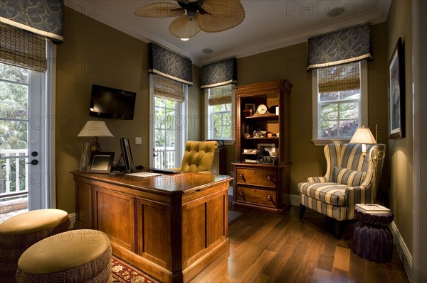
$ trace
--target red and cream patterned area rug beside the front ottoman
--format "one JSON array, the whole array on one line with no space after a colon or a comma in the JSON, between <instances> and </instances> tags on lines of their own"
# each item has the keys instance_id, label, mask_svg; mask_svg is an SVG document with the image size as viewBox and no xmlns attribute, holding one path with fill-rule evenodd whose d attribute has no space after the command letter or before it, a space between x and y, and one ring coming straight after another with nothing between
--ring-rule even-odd
<instances>
[{"instance_id":1,"label":"red and cream patterned area rug beside the front ottoman","mask_svg":"<svg viewBox=\"0 0 427 283\"><path fill-rule=\"evenodd\" d=\"M114 255L111 258L111 265L113 283L160 283L153 277L120 260Z\"/></svg>"}]
</instances>

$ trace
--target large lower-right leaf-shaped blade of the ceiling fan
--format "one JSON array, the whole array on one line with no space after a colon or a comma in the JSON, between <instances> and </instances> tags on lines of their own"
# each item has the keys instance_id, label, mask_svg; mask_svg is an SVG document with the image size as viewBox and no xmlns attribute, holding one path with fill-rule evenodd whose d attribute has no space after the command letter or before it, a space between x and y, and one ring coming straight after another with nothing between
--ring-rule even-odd
<instances>
[{"instance_id":1,"label":"large lower-right leaf-shaped blade of the ceiling fan","mask_svg":"<svg viewBox=\"0 0 427 283\"><path fill-rule=\"evenodd\" d=\"M239 2L233 13L227 16L213 16L204 14L199 16L199 27L206 33L216 33L218 31L228 30L241 23L245 19L245 9Z\"/></svg>"}]
</instances>

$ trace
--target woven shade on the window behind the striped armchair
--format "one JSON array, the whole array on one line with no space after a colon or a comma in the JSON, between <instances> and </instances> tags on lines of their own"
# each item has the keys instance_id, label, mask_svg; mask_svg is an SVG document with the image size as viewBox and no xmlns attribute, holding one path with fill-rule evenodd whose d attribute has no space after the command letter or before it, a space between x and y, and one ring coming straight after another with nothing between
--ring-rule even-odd
<instances>
[{"instance_id":1,"label":"woven shade on the window behind the striped armchair","mask_svg":"<svg viewBox=\"0 0 427 283\"><path fill-rule=\"evenodd\" d=\"M360 89L359 62L319 69L319 93Z\"/></svg>"}]
</instances>

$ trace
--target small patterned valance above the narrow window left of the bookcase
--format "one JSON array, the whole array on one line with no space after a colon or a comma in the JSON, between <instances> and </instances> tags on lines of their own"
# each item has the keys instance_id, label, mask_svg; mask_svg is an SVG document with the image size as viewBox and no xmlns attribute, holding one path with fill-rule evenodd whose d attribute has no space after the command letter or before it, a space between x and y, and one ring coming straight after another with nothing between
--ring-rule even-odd
<instances>
[{"instance_id":1,"label":"small patterned valance above the narrow window left of the bookcase","mask_svg":"<svg viewBox=\"0 0 427 283\"><path fill-rule=\"evenodd\" d=\"M201 88L237 84L237 60L231 58L201 67Z\"/></svg>"}]
</instances>

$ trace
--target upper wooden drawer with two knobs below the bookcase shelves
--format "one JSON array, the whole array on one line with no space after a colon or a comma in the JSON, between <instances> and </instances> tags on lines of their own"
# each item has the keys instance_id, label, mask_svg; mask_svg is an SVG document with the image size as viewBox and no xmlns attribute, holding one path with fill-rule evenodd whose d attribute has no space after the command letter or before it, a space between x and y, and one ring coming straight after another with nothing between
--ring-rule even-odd
<instances>
[{"instance_id":1,"label":"upper wooden drawer with two knobs below the bookcase shelves","mask_svg":"<svg viewBox=\"0 0 427 283\"><path fill-rule=\"evenodd\" d=\"M253 184L275 188L276 173L275 170L246 169L237 168L237 184Z\"/></svg>"}]
</instances>

